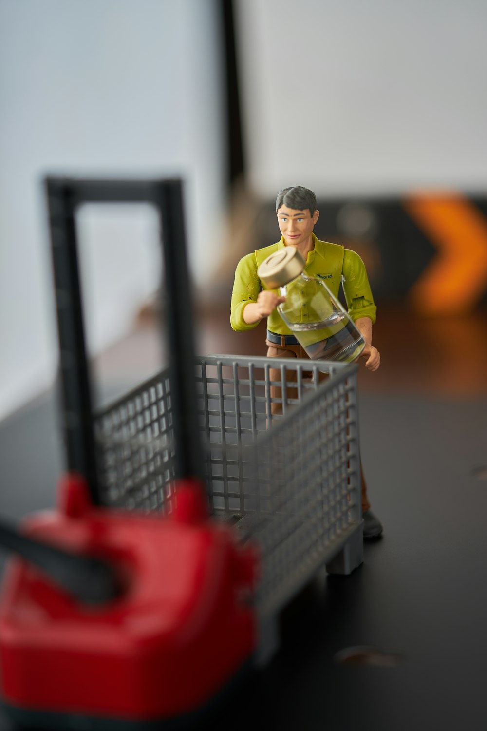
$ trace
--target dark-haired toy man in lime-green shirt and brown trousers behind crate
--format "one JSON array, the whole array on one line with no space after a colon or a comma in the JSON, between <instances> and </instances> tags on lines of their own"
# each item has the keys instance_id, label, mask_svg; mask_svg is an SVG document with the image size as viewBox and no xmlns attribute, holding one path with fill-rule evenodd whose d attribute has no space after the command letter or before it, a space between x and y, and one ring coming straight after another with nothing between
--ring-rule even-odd
<instances>
[{"instance_id":1,"label":"dark-haired toy man in lime-green shirt and brown trousers behind crate","mask_svg":"<svg viewBox=\"0 0 487 731\"><path fill-rule=\"evenodd\" d=\"M266 317L267 357L308 357L277 312L277 305L285 298L271 289L262 289L257 276L258 267L269 254L284 246L296 246L306 262L304 273L326 278L326 285L335 296L338 295L342 283L348 314L364 336L365 347L361 357L366 359L365 366L369 371L377 371L380 354L372 346L372 325L375 322L376 307L364 262L355 251L316 238L312 231L320 212L316 208L315 194L309 189L302 186L283 189L277 195L276 213L282 234L280 241L264 249L256 249L252 254L243 257L237 265L231 295L231 327L239 332L252 330ZM271 368L270 378L279 379L279 371L272 371L274 369ZM326 374L321 376L327 377ZM361 479L364 538L377 538L382 534L383 527L370 510L363 474Z\"/></svg>"}]
</instances>

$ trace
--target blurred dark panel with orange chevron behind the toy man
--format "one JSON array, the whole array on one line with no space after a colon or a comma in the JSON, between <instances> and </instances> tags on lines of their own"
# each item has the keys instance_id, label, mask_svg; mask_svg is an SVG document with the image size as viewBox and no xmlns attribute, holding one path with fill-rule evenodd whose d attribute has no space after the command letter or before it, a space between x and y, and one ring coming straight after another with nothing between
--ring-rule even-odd
<instances>
[{"instance_id":1,"label":"blurred dark panel with orange chevron behind the toy man","mask_svg":"<svg viewBox=\"0 0 487 731\"><path fill-rule=\"evenodd\" d=\"M448 195L451 227L448 220L436 228L426 219L427 209L422 218L413 215L412 197L318 200L315 234L361 256L377 302L410 300L419 314L461 314L486 300L487 200ZM448 195L424 194L414 200L448 204ZM274 202L269 202L256 216L254 248L278 239ZM419 286L421 297L414 296Z\"/></svg>"}]
</instances>

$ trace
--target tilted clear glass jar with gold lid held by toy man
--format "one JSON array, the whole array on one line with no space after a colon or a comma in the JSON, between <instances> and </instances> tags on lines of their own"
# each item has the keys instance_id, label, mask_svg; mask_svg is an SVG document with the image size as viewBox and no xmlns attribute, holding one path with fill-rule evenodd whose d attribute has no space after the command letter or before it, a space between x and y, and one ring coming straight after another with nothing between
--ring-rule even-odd
<instances>
[{"instance_id":1,"label":"tilted clear glass jar with gold lid held by toy man","mask_svg":"<svg viewBox=\"0 0 487 731\"><path fill-rule=\"evenodd\" d=\"M364 349L364 336L325 282L304 273L305 263L298 249L285 246L262 262L257 276L267 289L280 289L285 302L277 311L312 360L350 363Z\"/></svg>"}]
</instances>

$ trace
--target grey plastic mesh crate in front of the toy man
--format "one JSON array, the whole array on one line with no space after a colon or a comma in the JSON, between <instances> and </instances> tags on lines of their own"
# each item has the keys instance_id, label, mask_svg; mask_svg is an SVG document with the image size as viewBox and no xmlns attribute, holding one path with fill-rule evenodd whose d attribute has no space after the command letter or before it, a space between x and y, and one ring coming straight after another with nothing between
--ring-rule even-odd
<instances>
[{"instance_id":1,"label":"grey plastic mesh crate in front of the toy man","mask_svg":"<svg viewBox=\"0 0 487 731\"><path fill-rule=\"evenodd\" d=\"M294 358L196 360L210 507L240 539L258 542L262 615L319 566L348 573L361 563L356 370ZM166 510L176 449L167 371L98 414L95 433L104 504Z\"/></svg>"}]
</instances>

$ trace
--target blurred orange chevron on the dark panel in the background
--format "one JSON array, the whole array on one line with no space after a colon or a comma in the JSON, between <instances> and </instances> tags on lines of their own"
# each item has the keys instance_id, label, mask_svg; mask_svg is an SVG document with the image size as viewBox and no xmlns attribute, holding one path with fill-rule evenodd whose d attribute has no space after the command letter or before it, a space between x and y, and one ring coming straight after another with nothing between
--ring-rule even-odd
<instances>
[{"instance_id":1,"label":"blurred orange chevron on the dark panel in the background","mask_svg":"<svg viewBox=\"0 0 487 731\"><path fill-rule=\"evenodd\" d=\"M423 314L461 314L487 289L487 219L456 193L413 194L404 208L437 247L410 289L410 303Z\"/></svg>"}]
</instances>

